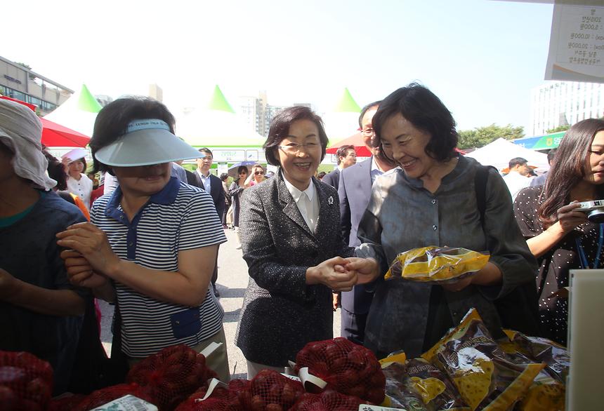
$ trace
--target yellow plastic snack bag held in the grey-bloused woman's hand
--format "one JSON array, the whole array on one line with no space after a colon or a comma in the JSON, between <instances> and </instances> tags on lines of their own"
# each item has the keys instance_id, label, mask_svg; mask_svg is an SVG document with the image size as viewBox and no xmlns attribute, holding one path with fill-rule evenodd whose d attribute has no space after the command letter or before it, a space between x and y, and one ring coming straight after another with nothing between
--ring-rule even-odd
<instances>
[{"instance_id":1,"label":"yellow plastic snack bag held in the grey-bloused woman's hand","mask_svg":"<svg viewBox=\"0 0 604 411\"><path fill-rule=\"evenodd\" d=\"M488 252L466 248L413 248L401 252L390 264L386 280L405 278L420 283L451 283L480 271L489 262Z\"/></svg>"}]
</instances>

